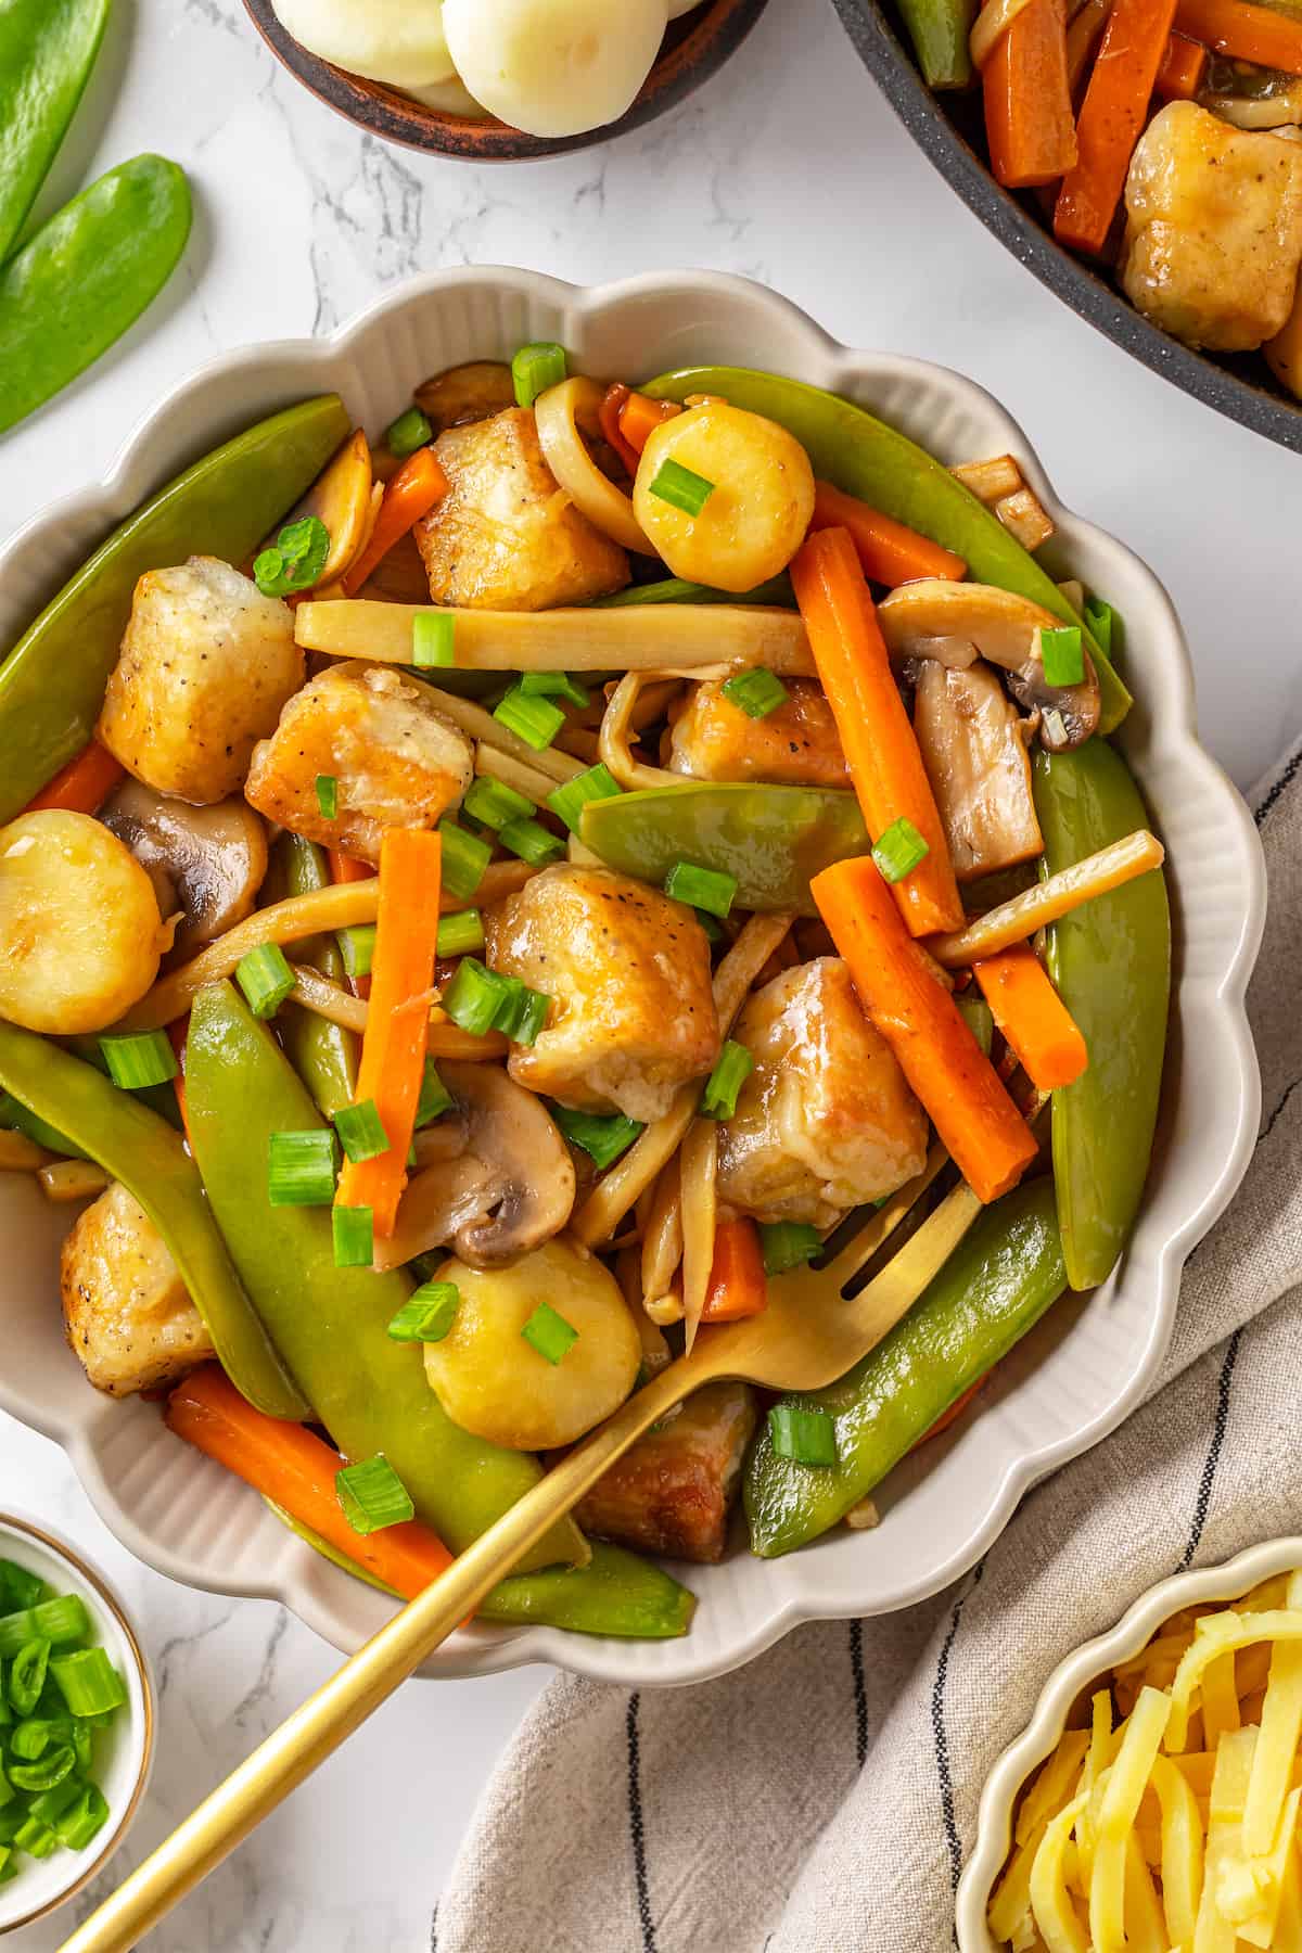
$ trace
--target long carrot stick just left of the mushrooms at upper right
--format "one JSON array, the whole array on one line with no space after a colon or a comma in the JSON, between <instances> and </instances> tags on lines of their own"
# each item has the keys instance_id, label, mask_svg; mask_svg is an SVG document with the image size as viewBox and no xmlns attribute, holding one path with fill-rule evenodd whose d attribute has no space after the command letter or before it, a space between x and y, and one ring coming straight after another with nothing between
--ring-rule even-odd
<instances>
[{"instance_id":1,"label":"long carrot stick just left of the mushrooms at upper right","mask_svg":"<svg viewBox=\"0 0 1302 1953\"><path fill-rule=\"evenodd\" d=\"M927 844L917 867L894 885L910 934L960 926L962 900L941 816L847 531L806 537L791 580L869 834L878 842L906 818Z\"/></svg>"}]
</instances>

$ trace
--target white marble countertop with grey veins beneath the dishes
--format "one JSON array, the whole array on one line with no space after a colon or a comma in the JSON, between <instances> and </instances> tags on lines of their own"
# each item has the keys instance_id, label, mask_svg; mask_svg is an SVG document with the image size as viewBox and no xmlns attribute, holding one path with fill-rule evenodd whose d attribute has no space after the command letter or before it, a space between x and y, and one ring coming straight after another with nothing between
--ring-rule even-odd
<instances>
[{"instance_id":1,"label":"white marble countertop with grey veins beneath the dishes","mask_svg":"<svg viewBox=\"0 0 1302 1953\"><path fill-rule=\"evenodd\" d=\"M830 0L773 0L736 61L642 135L484 170L357 135L275 68L238 0L117 0L45 203L142 148L191 174L185 264L113 355L4 443L0 533L100 473L160 391L211 353L328 332L408 271L506 262L597 281L711 266L783 289L843 340L947 361L999 395L1064 498L1167 582L1206 742L1240 783L1302 725L1302 611L1281 574L1298 561L1302 461L1185 400L1013 264L898 129ZM0 1416L6 1498L105 1564L154 1656L162 1758L135 1855L334 1656L265 1603L189 1594L137 1566L62 1457ZM406 1689L148 1945L426 1947L474 1797L543 1680ZM12 1945L53 1953L61 1937L47 1922Z\"/></svg>"}]
</instances>

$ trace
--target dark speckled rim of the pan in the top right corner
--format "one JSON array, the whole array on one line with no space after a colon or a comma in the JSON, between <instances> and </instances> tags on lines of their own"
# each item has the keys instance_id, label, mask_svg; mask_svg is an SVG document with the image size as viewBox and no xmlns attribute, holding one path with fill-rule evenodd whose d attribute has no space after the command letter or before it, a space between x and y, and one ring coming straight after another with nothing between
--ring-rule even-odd
<instances>
[{"instance_id":1,"label":"dark speckled rim of the pan in the top right corner","mask_svg":"<svg viewBox=\"0 0 1302 1953\"><path fill-rule=\"evenodd\" d=\"M1093 266L1062 250L1027 205L996 184L925 86L878 0L835 0L835 10L863 64L921 152L1019 264L1154 373L1218 414L1302 453L1302 404L1150 324ZM1261 361L1259 353L1243 357Z\"/></svg>"}]
</instances>

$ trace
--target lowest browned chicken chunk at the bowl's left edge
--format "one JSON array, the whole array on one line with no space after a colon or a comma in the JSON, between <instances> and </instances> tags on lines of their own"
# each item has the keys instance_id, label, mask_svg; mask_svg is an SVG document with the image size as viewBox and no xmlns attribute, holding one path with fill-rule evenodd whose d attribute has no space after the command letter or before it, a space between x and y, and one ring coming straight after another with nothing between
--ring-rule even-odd
<instances>
[{"instance_id":1,"label":"lowest browned chicken chunk at the bowl's left edge","mask_svg":"<svg viewBox=\"0 0 1302 1953\"><path fill-rule=\"evenodd\" d=\"M68 1342L109 1396L176 1383L217 1353L168 1244L119 1182L74 1223L59 1287Z\"/></svg>"}]
</instances>

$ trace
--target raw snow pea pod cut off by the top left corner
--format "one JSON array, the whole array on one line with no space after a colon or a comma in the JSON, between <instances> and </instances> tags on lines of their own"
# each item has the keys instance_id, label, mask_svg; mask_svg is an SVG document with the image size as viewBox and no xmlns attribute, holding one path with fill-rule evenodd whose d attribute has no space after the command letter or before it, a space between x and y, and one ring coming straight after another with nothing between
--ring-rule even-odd
<instances>
[{"instance_id":1,"label":"raw snow pea pod cut off by the top left corner","mask_svg":"<svg viewBox=\"0 0 1302 1953\"><path fill-rule=\"evenodd\" d=\"M109 0L0 6L0 264L82 100L107 18Z\"/></svg>"}]
</instances>

